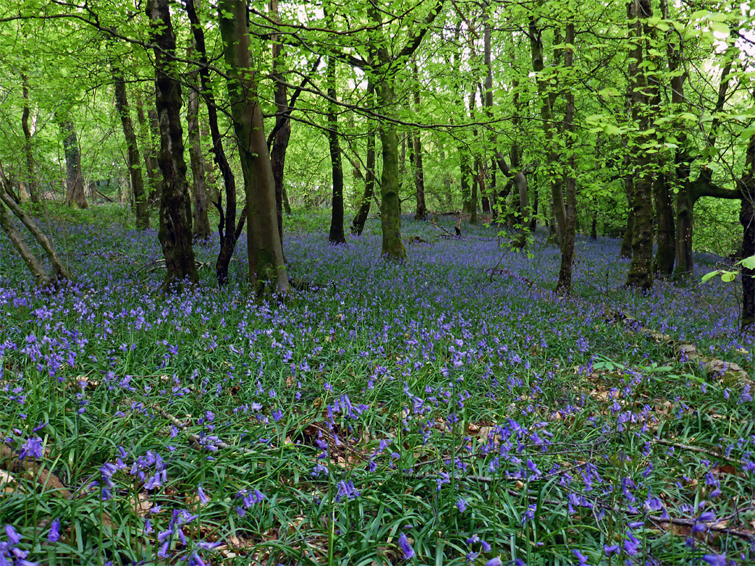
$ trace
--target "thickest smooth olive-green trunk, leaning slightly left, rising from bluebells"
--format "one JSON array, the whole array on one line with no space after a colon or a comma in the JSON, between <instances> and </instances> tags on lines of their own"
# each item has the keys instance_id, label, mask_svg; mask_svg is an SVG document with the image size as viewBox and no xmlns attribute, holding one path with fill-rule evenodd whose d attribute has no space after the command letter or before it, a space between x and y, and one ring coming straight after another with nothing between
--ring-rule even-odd
<instances>
[{"instance_id":1,"label":"thickest smooth olive-green trunk, leaning slightly left, rising from bluebells","mask_svg":"<svg viewBox=\"0 0 755 566\"><path fill-rule=\"evenodd\" d=\"M246 2L221 0L218 11L230 78L231 118L244 174L249 281L258 293L266 285L273 292L288 291L288 275L278 231L276 183L267 151L262 109L257 104Z\"/></svg>"}]
</instances>

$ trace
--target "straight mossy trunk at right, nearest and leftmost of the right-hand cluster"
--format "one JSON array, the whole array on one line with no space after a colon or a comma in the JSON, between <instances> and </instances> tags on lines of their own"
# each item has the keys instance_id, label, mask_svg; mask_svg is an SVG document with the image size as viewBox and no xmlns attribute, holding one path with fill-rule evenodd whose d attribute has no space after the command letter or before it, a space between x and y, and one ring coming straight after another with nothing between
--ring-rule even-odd
<instances>
[{"instance_id":1,"label":"straight mossy trunk at right, nearest and leftmost of the right-hand cluster","mask_svg":"<svg viewBox=\"0 0 755 566\"><path fill-rule=\"evenodd\" d=\"M630 50L629 75L632 89L632 117L638 134L634 143L642 146L650 139L649 100L644 61L644 20L652 17L650 0L631 0L627 7L633 48ZM640 151L634 158L634 234L632 260L627 272L627 287L648 290L653 285L653 164L648 152Z\"/></svg>"}]
</instances>

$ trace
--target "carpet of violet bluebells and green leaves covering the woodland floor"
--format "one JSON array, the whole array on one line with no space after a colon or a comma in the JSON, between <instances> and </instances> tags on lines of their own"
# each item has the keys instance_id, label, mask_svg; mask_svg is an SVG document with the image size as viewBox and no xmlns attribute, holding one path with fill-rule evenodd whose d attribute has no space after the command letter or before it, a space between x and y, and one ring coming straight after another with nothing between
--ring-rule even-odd
<instances>
[{"instance_id":1,"label":"carpet of violet bluebells and green leaves covering the woodland floor","mask_svg":"<svg viewBox=\"0 0 755 566\"><path fill-rule=\"evenodd\" d=\"M407 218L396 264L377 220L326 228L288 218L279 300L243 240L227 287L165 297L154 230L51 224L55 291L0 238L0 565L755 562L750 385L606 315L752 374L715 258L638 294L578 239L565 298L539 234Z\"/></svg>"}]
</instances>

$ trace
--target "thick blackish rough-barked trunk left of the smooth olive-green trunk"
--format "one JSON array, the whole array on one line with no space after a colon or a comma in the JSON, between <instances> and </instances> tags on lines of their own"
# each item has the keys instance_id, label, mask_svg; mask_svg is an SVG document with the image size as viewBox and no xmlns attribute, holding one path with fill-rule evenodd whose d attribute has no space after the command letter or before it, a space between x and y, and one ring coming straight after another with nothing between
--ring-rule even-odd
<instances>
[{"instance_id":1,"label":"thick blackish rough-barked trunk left of the smooth olive-green trunk","mask_svg":"<svg viewBox=\"0 0 755 566\"><path fill-rule=\"evenodd\" d=\"M186 162L183 161L183 128L181 128L181 85L173 57L176 36L171 23L169 0L147 0L146 15L155 51L155 98L160 127L159 164L162 171L160 199L160 228L158 238L165 256L163 291L184 281L196 283L192 248L190 195L186 183Z\"/></svg>"}]
</instances>

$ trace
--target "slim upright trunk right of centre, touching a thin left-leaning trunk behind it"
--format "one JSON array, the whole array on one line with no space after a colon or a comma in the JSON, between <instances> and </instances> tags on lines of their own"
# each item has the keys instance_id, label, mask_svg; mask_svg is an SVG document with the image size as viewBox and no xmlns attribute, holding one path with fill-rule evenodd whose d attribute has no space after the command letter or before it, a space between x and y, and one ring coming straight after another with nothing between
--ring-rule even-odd
<instances>
[{"instance_id":1,"label":"slim upright trunk right of centre, touching a thin left-leaning trunk behind it","mask_svg":"<svg viewBox=\"0 0 755 566\"><path fill-rule=\"evenodd\" d=\"M566 24L566 45L564 52L564 65L567 69L574 63L575 43L574 23ZM566 209L564 232L561 244L561 267L559 269L559 281L556 283L556 291L564 293L572 292L572 266L574 264L574 244L577 220L577 160L573 151L575 131L574 126L574 91L566 89L566 112L564 116L564 131L566 134L566 152L569 155L568 172L566 174Z\"/></svg>"}]
</instances>

